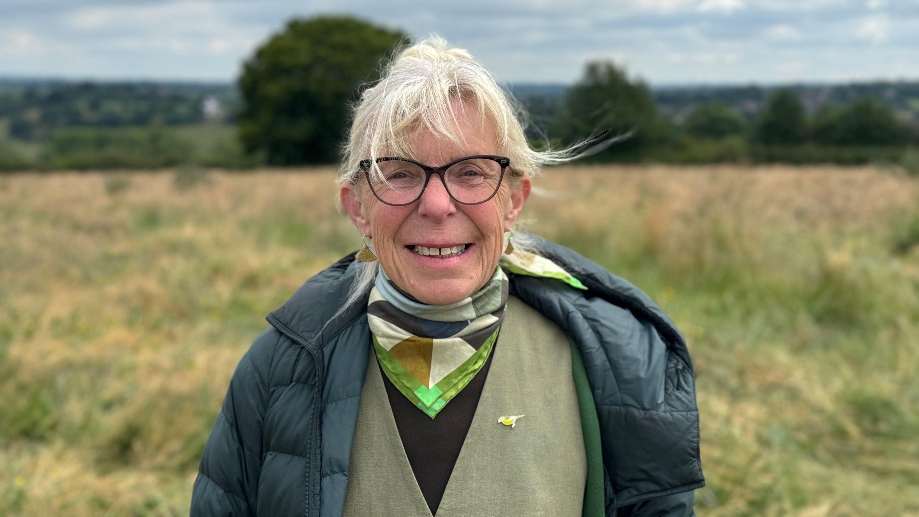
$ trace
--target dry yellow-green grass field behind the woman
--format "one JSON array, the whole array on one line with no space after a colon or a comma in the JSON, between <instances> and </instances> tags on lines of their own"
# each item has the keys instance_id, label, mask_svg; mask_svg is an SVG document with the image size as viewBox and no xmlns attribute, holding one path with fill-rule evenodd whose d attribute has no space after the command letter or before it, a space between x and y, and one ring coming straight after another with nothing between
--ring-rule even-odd
<instances>
[{"instance_id":1,"label":"dry yellow-green grass field behind the woman","mask_svg":"<svg viewBox=\"0 0 919 517\"><path fill-rule=\"evenodd\" d=\"M703 516L919 516L919 180L551 169L525 229L697 367ZM0 177L0 515L185 515L264 316L357 249L330 169Z\"/></svg>"}]
</instances>

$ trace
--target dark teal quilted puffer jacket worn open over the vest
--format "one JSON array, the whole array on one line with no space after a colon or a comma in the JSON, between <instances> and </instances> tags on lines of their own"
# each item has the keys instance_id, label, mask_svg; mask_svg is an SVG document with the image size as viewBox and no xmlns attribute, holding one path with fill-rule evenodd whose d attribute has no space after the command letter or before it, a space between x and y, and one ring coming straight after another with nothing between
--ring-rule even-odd
<instances>
[{"instance_id":1,"label":"dark teal quilted puffer jacket worn open over the vest","mask_svg":"<svg viewBox=\"0 0 919 517\"><path fill-rule=\"evenodd\" d=\"M692 515L692 490L705 480L686 342L628 281L549 241L540 253L587 291L510 275L511 294L581 351L600 424L607 516ZM323 324L355 271L352 254L267 316L271 327L233 373L204 448L193 516L341 515L368 367L367 304Z\"/></svg>"}]
</instances>

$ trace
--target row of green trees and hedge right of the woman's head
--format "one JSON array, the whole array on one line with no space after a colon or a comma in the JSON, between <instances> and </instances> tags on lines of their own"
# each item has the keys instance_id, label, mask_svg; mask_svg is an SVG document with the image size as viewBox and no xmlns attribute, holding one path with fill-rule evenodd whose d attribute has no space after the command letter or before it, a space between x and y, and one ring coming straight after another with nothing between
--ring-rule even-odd
<instances>
[{"instance_id":1,"label":"row of green trees and hedge right of the woman's head","mask_svg":"<svg viewBox=\"0 0 919 517\"><path fill-rule=\"evenodd\" d=\"M529 136L556 146L596 132L630 134L595 161L868 163L896 160L919 145L914 122L868 96L824 104L809 115L800 93L777 89L752 114L710 101L682 118L666 116L651 90L613 63L588 63L563 96L524 98L524 104L536 114Z\"/></svg>"}]
</instances>

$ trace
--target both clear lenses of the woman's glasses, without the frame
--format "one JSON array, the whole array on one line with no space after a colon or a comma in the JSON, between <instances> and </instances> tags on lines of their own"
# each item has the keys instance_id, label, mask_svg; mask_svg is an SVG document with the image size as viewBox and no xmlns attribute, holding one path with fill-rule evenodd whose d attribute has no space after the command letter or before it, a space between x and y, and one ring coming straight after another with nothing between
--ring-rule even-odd
<instances>
[{"instance_id":1,"label":"both clear lenses of the woman's glasses, without the frame","mask_svg":"<svg viewBox=\"0 0 919 517\"><path fill-rule=\"evenodd\" d=\"M377 164L385 181L370 175L370 186L380 200L392 204L410 203L425 188L425 169L412 162L386 160ZM471 158L441 173L447 190L463 203L487 200L501 181L501 164L491 158ZM435 178L431 178L434 181Z\"/></svg>"}]
</instances>

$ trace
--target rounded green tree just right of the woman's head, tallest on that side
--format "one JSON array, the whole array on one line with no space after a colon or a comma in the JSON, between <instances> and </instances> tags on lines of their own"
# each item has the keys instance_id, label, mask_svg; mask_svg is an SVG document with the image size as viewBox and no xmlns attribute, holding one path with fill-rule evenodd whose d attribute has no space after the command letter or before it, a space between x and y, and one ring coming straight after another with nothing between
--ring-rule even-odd
<instances>
[{"instance_id":1,"label":"rounded green tree just right of the woman's head, tallest on that side","mask_svg":"<svg viewBox=\"0 0 919 517\"><path fill-rule=\"evenodd\" d=\"M608 62L587 63L584 76L568 90L550 136L573 144L598 132L630 134L627 140L598 155L614 160L640 158L667 132L648 87L641 81L630 81L625 72Z\"/></svg>"}]
</instances>

